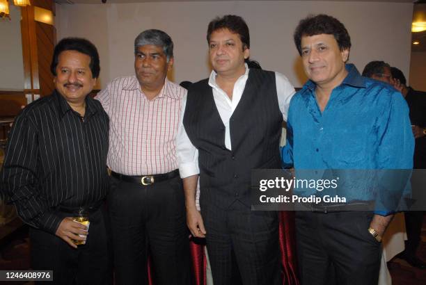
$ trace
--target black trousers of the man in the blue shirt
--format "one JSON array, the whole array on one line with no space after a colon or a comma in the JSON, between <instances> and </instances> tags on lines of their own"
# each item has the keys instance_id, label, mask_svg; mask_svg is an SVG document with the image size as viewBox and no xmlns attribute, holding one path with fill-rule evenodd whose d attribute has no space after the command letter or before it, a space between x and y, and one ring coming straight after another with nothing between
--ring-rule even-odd
<instances>
[{"instance_id":1,"label":"black trousers of the man in the blue shirt","mask_svg":"<svg viewBox=\"0 0 426 285\"><path fill-rule=\"evenodd\" d=\"M381 243L368 232L372 212L296 213L301 284L377 285Z\"/></svg>"}]
</instances>

